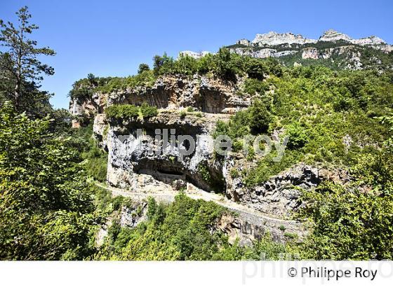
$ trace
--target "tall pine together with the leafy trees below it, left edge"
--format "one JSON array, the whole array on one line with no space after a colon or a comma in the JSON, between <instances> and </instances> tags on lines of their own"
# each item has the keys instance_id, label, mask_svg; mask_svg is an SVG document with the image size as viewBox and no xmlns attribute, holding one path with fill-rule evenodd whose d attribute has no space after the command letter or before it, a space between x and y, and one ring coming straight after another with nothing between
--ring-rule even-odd
<instances>
[{"instance_id":1,"label":"tall pine together with the leafy trees below it, left edge","mask_svg":"<svg viewBox=\"0 0 393 287\"><path fill-rule=\"evenodd\" d=\"M53 69L37 57L54 52L26 38L36 29L27 8L17 15L18 26L0 21L0 259L81 260L95 253L105 220L91 181L103 174L87 170L97 151L38 90Z\"/></svg>"}]
</instances>

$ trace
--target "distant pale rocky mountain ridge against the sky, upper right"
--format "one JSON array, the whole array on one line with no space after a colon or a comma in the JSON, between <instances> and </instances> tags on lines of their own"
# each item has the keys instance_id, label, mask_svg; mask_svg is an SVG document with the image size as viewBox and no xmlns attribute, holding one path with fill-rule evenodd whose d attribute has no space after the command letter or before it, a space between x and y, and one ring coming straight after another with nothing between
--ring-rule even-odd
<instances>
[{"instance_id":1,"label":"distant pale rocky mountain ridge against the sky, upper right","mask_svg":"<svg viewBox=\"0 0 393 287\"><path fill-rule=\"evenodd\" d=\"M319 39L305 38L301 34L256 34L253 40L242 38L227 45L230 52L238 55L279 58L285 66L322 65L331 69L376 69L379 72L393 70L393 45L378 36L352 38L333 29L324 31ZM182 51L179 55L204 57L208 52Z\"/></svg>"}]
</instances>

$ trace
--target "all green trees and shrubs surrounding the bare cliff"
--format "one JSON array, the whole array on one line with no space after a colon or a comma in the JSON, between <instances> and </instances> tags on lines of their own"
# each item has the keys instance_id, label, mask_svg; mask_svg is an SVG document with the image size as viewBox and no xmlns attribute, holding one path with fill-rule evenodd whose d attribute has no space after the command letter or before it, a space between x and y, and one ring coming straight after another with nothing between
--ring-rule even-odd
<instances>
[{"instance_id":1,"label":"all green trees and shrubs surrounding the bare cliff","mask_svg":"<svg viewBox=\"0 0 393 287\"><path fill-rule=\"evenodd\" d=\"M281 232L291 239L287 244L274 243L267 234L248 248L229 244L218 230L226 209L184 194L166 205L149 200L145 221L135 228L121 227L121 209L128 207L140 216L142 208L95 186L94 181L106 179L107 155L93 139L91 125L71 130L69 113L48 104L49 94L39 90L39 82L41 74L50 75L53 69L37 58L54 52L36 48L35 41L25 38L35 29L29 25L27 8L18 18L18 27L1 21L0 259L258 260L262 252L271 259L293 252L317 260L392 259L391 71L286 68L275 59L220 49L200 59L156 56L153 69L141 64L136 76L89 74L74 84L70 96L82 100L95 91L149 87L164 74L199 73L233 82L242 76L241 92L255 96L255 101L229 123L219 121L215 136L229 135L234 151L245 135L276 130L289 141L279 162L274 162L274 153L257 158L250 148L247 160L252 168L231 170L232 178L242 176L251 187L297 162L349 172L346 184L326 180L316 190L303 190L304 207L296 216L309 223L304 241L298 242L283 226ZM18 66L19 59L25 66ZM106 113L114 119L149 118L157 109L114 105ZM212 181L206 167L199 172ZM109 218L114 222L98 247L95 235Z\"/></svg>"}]
</instances>

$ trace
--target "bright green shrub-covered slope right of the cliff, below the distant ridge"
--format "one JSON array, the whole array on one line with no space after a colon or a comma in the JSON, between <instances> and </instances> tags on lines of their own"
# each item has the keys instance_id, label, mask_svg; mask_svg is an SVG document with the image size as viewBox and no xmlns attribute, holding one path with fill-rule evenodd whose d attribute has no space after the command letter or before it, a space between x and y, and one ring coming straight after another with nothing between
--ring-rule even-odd
<instances>
[{"instance_id":1,"label":"bright green shrub-covered slope right of the cliff, below the distant ridge","mask_svg":"<svg viewBox=\"0 0 393 287\"><path fill-rule=\"evenodd\" d=\"M392 135L378 117L392 113L392 73L332 71L324 67L298 67L271 76L264 85L274 93L237 113L229 123L219 123L216 134L228 134L235 143L247 134L284 130L286 153L280 162L274 154L244 171L246 182L265 181L296 162L326 167L353 167L365 155L374 155ZM345 146L343 138L352 144ZM235 144L235 147L237 145Z\"/></svg>"}]
</instances>

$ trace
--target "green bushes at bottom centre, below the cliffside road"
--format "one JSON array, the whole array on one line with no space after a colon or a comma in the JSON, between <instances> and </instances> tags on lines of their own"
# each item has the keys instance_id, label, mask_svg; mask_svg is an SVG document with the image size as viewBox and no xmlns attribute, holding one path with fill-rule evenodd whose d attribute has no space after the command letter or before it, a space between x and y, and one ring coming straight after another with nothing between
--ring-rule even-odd
<instances>
[{"instance_id":1,"label":"green bushes at bottom centre, below the cliffside road","mask_svg":"<svg viewBox=\"0 0 393 287\"><path fill-rule=\"evenodd\" d=\"M136 228L120 228L114 223L105 244L95 255L100 260L240 260L278 259L289 246L277 244L269 235L253 248L228 244L227 237L215 230L226 211L213 202L192 200L184 194L169 205L148 202L147 221Z\"/></svg>"}]
</instances>

